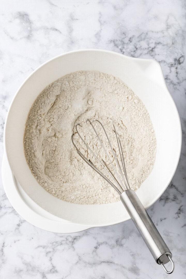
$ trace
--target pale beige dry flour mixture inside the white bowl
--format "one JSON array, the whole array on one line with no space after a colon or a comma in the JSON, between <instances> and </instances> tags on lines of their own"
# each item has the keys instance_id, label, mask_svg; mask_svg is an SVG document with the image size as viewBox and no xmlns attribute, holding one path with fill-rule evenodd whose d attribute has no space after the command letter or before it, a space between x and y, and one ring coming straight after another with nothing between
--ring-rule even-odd
<instances>
[{"instance_id":1,"label":"pale beige dry flour mixture inside the white bowl","mask_svg":"<svg viewBox=\"0 0 186 279\"><path fill-rule=\"evenodd\" d=\"M153 169L156 157L153 125L134 92L119 78L99 71L67 74L39 94L26 121L27 163L38 183L59 199L76 204L119 201L119 194L82 160L71 142L75 125L80 123L86 143L100 158L104 156L95 134L87 128L87 119L98 119L105 125L116 149L112 121L115 123L131 188L138 189ZM77 134L74 141L90 158L85 146L78 143L81 140Z\"/></svg>"}]
</instances>

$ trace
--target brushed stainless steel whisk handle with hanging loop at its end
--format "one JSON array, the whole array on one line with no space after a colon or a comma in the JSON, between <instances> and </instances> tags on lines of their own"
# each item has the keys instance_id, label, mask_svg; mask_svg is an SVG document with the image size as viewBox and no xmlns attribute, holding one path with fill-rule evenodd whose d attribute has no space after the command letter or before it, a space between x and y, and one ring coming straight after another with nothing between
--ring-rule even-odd
<instances>
[{"instance_id":1,"label":"brushed stainless steel whisk handle with hanging loop at its end","mask_svg":"<svg viewBox=\"0 0 186 279\"><path fill-rule=\"evenodd\" d=\"M171 259L172 254L134 190L124 191L120 195L120 200L136 225L156 263L161 264L166 273L172 273L174 270L174 263ZM164 266L169 261L172 264L170 271Z\"/></svg>"}]
</instances>

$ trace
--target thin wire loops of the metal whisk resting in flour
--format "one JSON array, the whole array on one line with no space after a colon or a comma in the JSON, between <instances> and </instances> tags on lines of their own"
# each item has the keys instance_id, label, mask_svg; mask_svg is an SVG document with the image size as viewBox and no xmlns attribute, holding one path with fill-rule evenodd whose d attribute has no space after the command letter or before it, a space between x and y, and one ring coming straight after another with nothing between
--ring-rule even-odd
<instances>
[{"instance_id":1,"label":"thin wire loops of the metal whisk resting in flour","mask_svg":"<svg viewBox=\"0 0 186 279\"><path fill-rule=\"evenodd\" d=\"M95 120L95 121L98 122L98 124L103 129L103 132L105 133L108 144L110 146L110 150L112 150L112 153L113 153L112 158L115 159L115 163L113 163L112 158L109 155L108 150L105 148L105 146L103 144L103 140L101 140L95 126L93 125L93 123L89 119L87 119L87 123L89 123L91 125L91 127L93 128L93 131L94 131L96 137L98 138L98 140L99 140L99 142L100 142L100 144L101 144L101 146L104 150L104 153L106 155L107 161L109 162L109 165L105 162L105 160L103 160L103 158L98 158L98 156L95 154L95 152L92 151L92 149L88 146L88 144L85 142L83 137L80 135L80 133L78 131L78 126L80 126L80 124L76 125L76 132L77 132L79 138L81 139L82 143L86 146L87 150L89 150L91 152L93 157L100 164L102 171L98 167L96 167L95 164L90 159L86 158L83 155L83 153L79 150L77 145L74 143L74 139L73 139L74 134L72 135L72 143L75 146L76 150L78 151L78 154L80 155L80 157L93 170L95 170L98 174L100 174L119 194L122 194L125 190L130 189L130 184L129 184L129 180L128 180L127 172L126 172L126 168L125 168L124 153L123 153L121 141L120 141L119 136L117 134L115 125L112 123L113 128L114 128L113 131L115 133L116 140L117 140L117 145L118 145L118 149L119 149L119 158L118 158L117 155L116 155L116 152L115 152L115 150L114 150L114 148L113 148L113 146L110 142L110 139L108 137L108 134L107 134L103 124L99 120ZM121 165L122 165L122 167L121 167ZM123 171L122 171L122 169L123 169ZM105 174L103 173L103 171L105 172Z\"/></svg>"}]
</instances>

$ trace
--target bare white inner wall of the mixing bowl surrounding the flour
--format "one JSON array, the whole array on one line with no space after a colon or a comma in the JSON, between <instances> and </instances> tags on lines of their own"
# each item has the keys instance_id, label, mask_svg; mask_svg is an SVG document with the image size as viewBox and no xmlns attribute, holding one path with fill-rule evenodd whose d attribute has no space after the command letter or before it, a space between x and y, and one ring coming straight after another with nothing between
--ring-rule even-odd
<instances>
[{"instance_id":1,"label":"bare white inner wall of the mixing bowl surrounding the flour","mask_svg":"<svg viewBox=\"0 0 186 279\"><path fill-rule=\"evenodd\" d=\"M120 202L75 205L57 199L38 184L24 156L25 122L34 100L51 82L78 70L98 70L117 76L148 109L156 133L157 155L151 174L136 192L145 208L161 196L177 168L182 136L180 118L158 62L106 50L78 50L54 57L36 69L18 89L6 118L4 145L9 165L20 186L32 201L51 216L88 227L111 225L129 219ZM50 224L45 229L54 231Z\"/></svg>"}]
</instances>

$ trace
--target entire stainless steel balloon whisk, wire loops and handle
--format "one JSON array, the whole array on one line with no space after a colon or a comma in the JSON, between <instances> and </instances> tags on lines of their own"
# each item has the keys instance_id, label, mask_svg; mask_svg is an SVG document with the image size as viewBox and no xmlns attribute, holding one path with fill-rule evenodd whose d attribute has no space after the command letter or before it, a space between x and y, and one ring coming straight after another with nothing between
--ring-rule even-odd
<instances>
[{"instance_id":1,"label":"entire stainless steel balloon whisk, wire loops and handle","mask_svg":"<svg viewBox=\"0 0 186 279\"><path fill-rule=\"evenodd\" d=\"M98 122L98 125L101 126L101 129L103 129L106 138L108 140L108 144L110 146L110 149L113 153L113 158L115 160L115 164L113 163L112 158L109 155L108 150L106 150L103 140L101 140L100 136L98 135L98 132L93 125L93 123L87 119L87 123L90 123L91 128L93 128L93 131L95 135L97 136L105 154L108 158L108 162L110 165L108 166L103 159L99 159L98 156L95 155L95 153L91 150L91 148L87 145L83 137L80 135L78 131L78 126L80 124L76 125L76 132L81 139L82 143L86 146L87 150L90 151L90 154L93 155L93 158L96 159L96 161L101 165L101 170L98 169L98 167L95 166L95 164L88 158L86 158L83 153L78 149L76 144L74 143L74 134L72 135L72 143L75 146L76 150L78 151L78 154L81 156L81 158L92 168L94 169L98 174L100 174L120 195L120 200L122 201L123 205L125 206L127 212L129 213L131 219L133 220L134 224L136 225L139 233L141 234L143 240L145 241L147 247L149 248L149 251L153 255L156 263L161 264L163 269L166 273L170 274L174 270L174 263L172 261L172 254L170 250L168 249L167 245L165 244L163 238L161 237L160 233L156 229L154 223L152 222L151 218L149 217L147 211L145 210L144 206L142 205L141 201L139 200L137 194L134 190L130 188L129 179L127 177L126 167L125 167L125 161L124 161L124 153L121 145L121 141L119 139L119 136L117 134L115 125L113 124L114 133L117 140L117 145L119 148L119 156L117 157L116 151L112 147L112 144L110 142L110 139L108 137L108 134L103 126L103 124L99 120L95 120ZM122 167L121 167L122 165ZM116 170L119 170L119 172ZM122 171L123 169L123 171ZM103 170L105 174L103 173ZM109 178L108 178L109 177ZM164 264L171 262L172 268L170 271L168 271Z\"/></svg>"}]
</instances>

